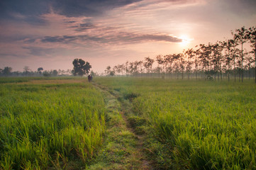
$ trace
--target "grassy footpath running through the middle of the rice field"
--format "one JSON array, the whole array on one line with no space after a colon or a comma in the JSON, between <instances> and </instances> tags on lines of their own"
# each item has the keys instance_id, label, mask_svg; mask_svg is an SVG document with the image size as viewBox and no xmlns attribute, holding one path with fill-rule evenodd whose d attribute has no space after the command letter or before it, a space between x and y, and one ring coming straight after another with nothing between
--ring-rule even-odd
<instances>
[{"instance_id":1,"label":"grassy footpath running through the middle of the rice field","mask_svg":"<svg viewBox=\"0 0 256 170\"><path fill-rule=\"evenodd\" d=\"M136 135L128 123L130 102L118 100L118 91L93 85L104 95L107 130L101 149L87 169L153 169L143 147L145 135Z\"/></svg>"}]
</instances>

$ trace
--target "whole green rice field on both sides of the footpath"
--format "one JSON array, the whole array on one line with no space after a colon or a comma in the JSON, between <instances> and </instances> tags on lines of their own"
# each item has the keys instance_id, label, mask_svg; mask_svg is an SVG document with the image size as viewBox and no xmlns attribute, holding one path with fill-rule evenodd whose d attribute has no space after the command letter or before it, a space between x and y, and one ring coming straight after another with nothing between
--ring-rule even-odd
<instances>
[{"instance_id":1,"label":"whole green rice field on both sides of the footpath","mask_svg":"<svg viewBox=\"0 0 256 170\"><path fill-rule=\"evenodd\" d=\"M99 150L108 160L108 98L96 85L145 135L152 169L256 169L255 83L141 77L1 78L0 169L86 169Z\"/></svg>"}]
</instances>

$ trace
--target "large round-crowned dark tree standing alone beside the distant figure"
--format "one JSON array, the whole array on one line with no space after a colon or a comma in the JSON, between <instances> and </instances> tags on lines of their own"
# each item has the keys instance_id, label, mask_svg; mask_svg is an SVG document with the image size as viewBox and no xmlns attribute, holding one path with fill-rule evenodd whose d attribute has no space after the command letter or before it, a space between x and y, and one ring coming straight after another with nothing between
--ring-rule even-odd
<instances>
[{"instance_id":1,"label":"large round-crowned dark tree standing alone beside the distant figure","mask_svg":"<svg viewBox=\"0 0 256 170\"><path fill-rule=\"evenodd\" d=\"M89 62L84 62L82 59L74 59L73 61L73 70L72 73L74 76L83 76L84 74L89 74L89 71L91 69L91 65Z\"/></svg>"}]
</instances>

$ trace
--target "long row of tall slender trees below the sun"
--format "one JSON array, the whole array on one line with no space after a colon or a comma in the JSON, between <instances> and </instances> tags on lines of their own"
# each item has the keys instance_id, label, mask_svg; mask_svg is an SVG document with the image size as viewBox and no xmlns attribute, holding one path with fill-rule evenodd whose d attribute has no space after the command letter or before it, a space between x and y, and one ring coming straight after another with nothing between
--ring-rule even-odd
<instances>
[{"instance_id":1,"label":"long row of tall slender trees below the sun","mask_svg":"<svg viewBox=\"0 0 256 170\"><path fill-rule=\"evenodd\" d=\"M231 31L230 40L196 45L178 54L157 55L155 58L126 62L111 68L106 67L106 75L130 75L177 77L177 79L234 79L242 81L245 77L255 79L256 75L256 28ZM250 50L245 49L250 45ZM155 67L153 67L155 66ZM255 79L256 83L256 79Z\"/></svg>"}]
</instances>

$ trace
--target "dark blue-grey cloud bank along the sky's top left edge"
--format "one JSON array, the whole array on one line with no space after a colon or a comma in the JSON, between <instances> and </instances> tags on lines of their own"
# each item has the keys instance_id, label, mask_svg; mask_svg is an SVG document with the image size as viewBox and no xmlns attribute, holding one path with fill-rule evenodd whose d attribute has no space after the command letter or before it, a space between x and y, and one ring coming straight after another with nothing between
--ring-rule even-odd
<instances>
[{"instance_id":1,"label":"dark blue-grey cloud bank along the sky's top left edge","mask_svg":"<svg viewBox=\"0 0 256 170\"><path fill-rule=\"evenodd\" d=\"M38 21L40 15L49 13L52 8L68 17L99 16L105 11L133 4L136 1L141 0L1 0L0 18L18 20L18 18L21 19L18 16L23 16L26 21Z\"/></svg>"}]
</instances>

